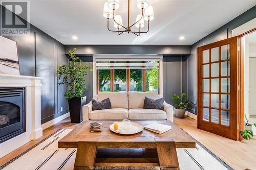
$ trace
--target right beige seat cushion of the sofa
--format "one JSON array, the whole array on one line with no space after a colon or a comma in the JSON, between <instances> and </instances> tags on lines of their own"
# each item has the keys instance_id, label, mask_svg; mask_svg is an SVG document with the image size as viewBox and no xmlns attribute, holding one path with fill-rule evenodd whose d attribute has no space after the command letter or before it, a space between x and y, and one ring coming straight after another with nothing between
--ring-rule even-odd
<instances>
[{"instance_id":1,"label":"right beige seat cushion of the sofa","mask_svg":"<svg viewBox=\"0 0 256 170\"><path fill-rule=\"evenodd\" d=\"M131 120L165 120L166 112L157 109L129 109L128 118Z\"/></svg>"}]
</instances>

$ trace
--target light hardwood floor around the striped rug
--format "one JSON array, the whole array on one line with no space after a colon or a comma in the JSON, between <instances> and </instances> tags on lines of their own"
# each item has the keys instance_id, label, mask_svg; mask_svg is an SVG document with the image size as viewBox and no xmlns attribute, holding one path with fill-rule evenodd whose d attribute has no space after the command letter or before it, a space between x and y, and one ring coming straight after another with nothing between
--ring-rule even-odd
<instances>
[{"instance_id":1,"label":"light hardwood floor around the striped rug","mask_svg":"<svg viewBox=\"0 0 256 170\"><path fill-rule=\"evenodd\" d=\"M211 152L216 154L224 162L234 169L256 169L256 139L249 141L234 141L196 128L196 120L185 117L183 119L174 118L174 123L184 129L188 134L201 142ZM75 128L78 124L69 122L69 118L43 131L43 136L33 140L0 158L0 166L23 153L40 140L46 138L60 128Z\"/></svg>"}]
</instances>

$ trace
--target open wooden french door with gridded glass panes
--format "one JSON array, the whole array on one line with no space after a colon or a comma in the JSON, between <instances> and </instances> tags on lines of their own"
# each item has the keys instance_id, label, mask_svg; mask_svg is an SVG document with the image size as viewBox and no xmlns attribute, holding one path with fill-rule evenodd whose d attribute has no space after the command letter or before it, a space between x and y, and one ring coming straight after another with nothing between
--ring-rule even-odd
<instances>
[{"instance_id":1,"label":"open wooden french door with gridded glass panes","mask_svg":"<svg viewBox=\"0 0 256 170\"><path fill-rule=\"evenodd\" d=\"M197 48L197 127L238 139L238 37Z\"/></svg>"}]
</instances>

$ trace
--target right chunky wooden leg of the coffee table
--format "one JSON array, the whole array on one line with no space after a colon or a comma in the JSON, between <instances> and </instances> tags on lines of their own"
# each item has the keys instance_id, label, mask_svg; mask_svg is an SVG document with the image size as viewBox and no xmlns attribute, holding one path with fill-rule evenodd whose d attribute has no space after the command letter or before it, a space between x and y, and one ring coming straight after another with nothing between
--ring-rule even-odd
<instances>
[{"instance_id":1,"label":"right chunky wooden leg of the coffee table","mask_svg":"<svg viewBox=\"0 0 256 170\"><path fill-rule=\"evenodd\" d=\"M156 142L160 166L167 169L180 169L175 142Z\"/></svg>"}]
</instances>

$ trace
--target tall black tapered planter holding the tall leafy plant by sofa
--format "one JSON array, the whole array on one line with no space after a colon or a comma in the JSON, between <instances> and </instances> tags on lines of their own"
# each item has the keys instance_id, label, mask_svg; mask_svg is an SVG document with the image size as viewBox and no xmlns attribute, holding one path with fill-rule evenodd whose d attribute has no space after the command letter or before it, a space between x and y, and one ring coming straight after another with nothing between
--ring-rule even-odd
<instances>
[{"instance_id":1,"label":"tall black tapered planter holding the tall leafy plant by sofa","mask_svg":"<svg viewBox=\"0 0 256 170\"><path fill-rule=\"evenodd\" d=\"M86 96L82 98L72 98L69 100L69 112L71 123L82 122L82 106L86 104Z\"/></svg>"}]
</instances>

